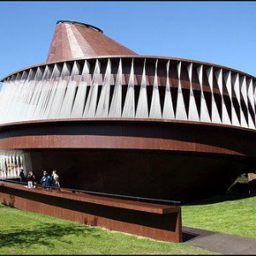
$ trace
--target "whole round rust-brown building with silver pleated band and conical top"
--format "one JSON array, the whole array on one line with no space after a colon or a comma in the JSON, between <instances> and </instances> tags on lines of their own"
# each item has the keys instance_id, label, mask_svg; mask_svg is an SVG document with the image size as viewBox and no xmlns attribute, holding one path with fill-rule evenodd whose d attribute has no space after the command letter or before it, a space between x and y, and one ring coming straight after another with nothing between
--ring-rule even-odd
<instances>
[{"instance_id":1,"label":"whole round rust-brown building with silver pleated band and conical top","mask_svg":"<svg viewBox=\"0 0 256 256\"><path fill-rule=\"evenodd\" d=\"M58 21L46 62L2 82L2 177L21 156L66 188L190 201L256 160L253 76L137 55L96 26Z\"/></svg>"}]
</instances>

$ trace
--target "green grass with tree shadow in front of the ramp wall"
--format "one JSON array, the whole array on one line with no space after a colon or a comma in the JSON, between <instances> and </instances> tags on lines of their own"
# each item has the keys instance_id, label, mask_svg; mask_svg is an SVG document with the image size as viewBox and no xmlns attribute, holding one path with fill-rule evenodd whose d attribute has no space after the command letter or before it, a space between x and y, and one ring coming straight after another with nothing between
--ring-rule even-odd
<instances>
[{"instance_id":1,"label":"green grass with tree shadow in front of the ramp wall","mask_svg":"<svg viewBox=\"0 0 256 256\"><path fill-rule=\"evenodd\" d=\"M0 254L209 254L0 204ZM213 253L211 253L213 254Z\"/></svg>"}]
</instances>

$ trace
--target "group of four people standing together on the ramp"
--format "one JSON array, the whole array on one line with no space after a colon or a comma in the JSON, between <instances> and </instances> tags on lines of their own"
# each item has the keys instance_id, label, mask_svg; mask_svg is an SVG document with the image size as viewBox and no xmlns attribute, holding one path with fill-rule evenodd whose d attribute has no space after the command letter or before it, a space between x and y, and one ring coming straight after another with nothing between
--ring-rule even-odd
<instances>
[{"instance_id":1,"label":"group of four people standing together on the ramp","mask_svg":"<svg viewBox=\"0 0 256 256\"><path fill-rule=\"evenodd\" d=\"M20 171L20 182L22 184L26 183L27 188L32 189L37 186L37 179L33 172L28 172L27 177L25 177L24 170ZM39 183L42 185L44 189L49 189L49 187L60 188L60 177L57 174L57 171L52 171L52 174L49 175L48 172L43 172L43 177L39 180Z\"/></svg>"}]
</instances>

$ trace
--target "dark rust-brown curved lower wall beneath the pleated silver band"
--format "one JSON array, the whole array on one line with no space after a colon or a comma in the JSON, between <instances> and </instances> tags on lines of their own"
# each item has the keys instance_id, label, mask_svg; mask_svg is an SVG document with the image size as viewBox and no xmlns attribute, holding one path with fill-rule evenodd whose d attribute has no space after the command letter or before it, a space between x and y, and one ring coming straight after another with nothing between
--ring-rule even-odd
<instances>
[{"instance_id":1,"label":"dark rust-brown curved lower wall beneath the pleated silver band","mask_svg":"<svg viewBox=\"0 0 256 256\"><path fill-rule=\"evenodd\" d=\"M0 127L0 148L22 150L38 179L57 170L62 187L178 201L224 192L255 165L255 143L249 129L160 119Z\"/></svg>"}]
</instances>

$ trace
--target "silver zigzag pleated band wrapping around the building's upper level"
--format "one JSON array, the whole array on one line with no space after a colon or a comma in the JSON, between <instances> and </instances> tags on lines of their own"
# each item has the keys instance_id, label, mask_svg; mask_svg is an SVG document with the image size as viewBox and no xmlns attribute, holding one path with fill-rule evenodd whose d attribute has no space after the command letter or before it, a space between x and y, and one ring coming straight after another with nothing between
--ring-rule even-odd
<instances>
[{"instance_id":1,"label":"silver zigzag pleated band wrapping around the building's upper level","mask_svg":"<svg viewBox=\"0 0 256 256\"><path fill-rule=\"evenodd\" d=\"M41 65L3 80L0 124L37 119L172 119L255 130L255 78L157 57Z\"/></svg>"}]
</instances>

